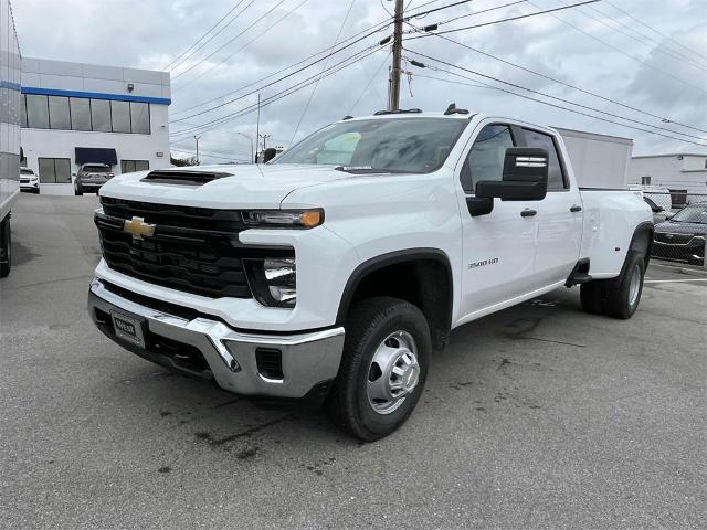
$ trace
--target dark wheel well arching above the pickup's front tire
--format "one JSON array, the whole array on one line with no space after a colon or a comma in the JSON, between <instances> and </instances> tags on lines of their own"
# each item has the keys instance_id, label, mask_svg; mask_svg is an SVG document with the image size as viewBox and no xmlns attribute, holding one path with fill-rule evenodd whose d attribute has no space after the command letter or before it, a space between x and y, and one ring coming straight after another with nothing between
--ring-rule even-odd
<instances>
[{"instance_id":1,"label":"dark wheel well arching above the pickup's front tire","mask_svg":"<svg viewBox=\"0 0 707 530\"><path fill-rule=\"evenodd\" d=\"M358 301L373 296L392 296L420 308L430 326L432 348L446 347L452 322L452 271L446 256L401 256L379 261L356 272L349 279L339 306L337 322L344 324L349 309ZM360 268L360 267L359 267Z\"/></svg>"}]
</instances>

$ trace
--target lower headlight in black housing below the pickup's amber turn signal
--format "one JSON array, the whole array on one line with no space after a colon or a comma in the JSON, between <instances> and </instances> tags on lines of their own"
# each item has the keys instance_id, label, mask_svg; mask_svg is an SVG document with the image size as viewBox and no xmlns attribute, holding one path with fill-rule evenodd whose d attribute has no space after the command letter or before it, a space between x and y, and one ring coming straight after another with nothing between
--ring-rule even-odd
<instances>
[{"instance_id":1,"label":"lower headlight in black housing below the pickup's amber turn signal","mask_svg":"<svg viewBox=\"0 0 707 530\"><path fill-rule=\"evenodd\" d=\"M297 266L294 257L245 259L253 296L268 307L295 307Z\"/></svg>"}]
</instances>

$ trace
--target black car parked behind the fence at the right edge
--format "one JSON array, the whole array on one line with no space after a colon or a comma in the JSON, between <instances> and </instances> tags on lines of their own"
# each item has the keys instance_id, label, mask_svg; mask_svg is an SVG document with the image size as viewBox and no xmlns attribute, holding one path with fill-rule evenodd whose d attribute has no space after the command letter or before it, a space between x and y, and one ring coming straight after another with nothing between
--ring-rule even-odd
<instances>
[{"instance_id":1,"label":"black car parked behind the fence at the right edge","mask_svg":"<svg viewBox=\"0 0 707 530\"><path fill-rule=\"evenodd\" d=\"M689 204L655 225L653 256L703 265L707 237L707 202Z\"/></svg>"}]
</instances>

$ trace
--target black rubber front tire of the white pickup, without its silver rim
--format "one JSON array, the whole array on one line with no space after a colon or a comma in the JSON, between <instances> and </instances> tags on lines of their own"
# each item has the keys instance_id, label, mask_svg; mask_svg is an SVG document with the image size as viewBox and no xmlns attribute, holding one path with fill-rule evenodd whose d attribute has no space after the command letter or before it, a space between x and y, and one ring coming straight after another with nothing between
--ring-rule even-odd
<instances>
[{"instance_id":1,"label":"black rubber front tire of the white pickup, without its silver rim","mask_svg":"<svg viewBox=\"0 0 707 530\"><path fill-rule=\"evenodd\" d=\"M383 414L369 402L367 385L373 354L395 331L414 339L419 379L398 409ZM431 352L430 327L418 307L391 297L360 301L351 308L346 322L341 365L325 403L328 416L339 428L365 442L389 435L415 407L426 380Z\"/></svg>"}]
</instances>

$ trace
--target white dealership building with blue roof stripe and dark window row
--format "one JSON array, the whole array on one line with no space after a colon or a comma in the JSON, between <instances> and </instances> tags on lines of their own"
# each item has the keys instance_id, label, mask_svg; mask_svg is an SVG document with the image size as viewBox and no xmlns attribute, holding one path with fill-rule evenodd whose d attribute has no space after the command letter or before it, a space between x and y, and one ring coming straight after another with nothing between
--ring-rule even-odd
<instances>
[{"instance_id":1,"label":"white dealership building with blue roof stripe and dark window row","mask_svg":"<svg viewBox=\"0 0 707 530\"><path fill-rule=\"evenodd\" d=\"M22 165L72 194L83 163L116 174L170 166L169 72L22 57Z\"/></svg>"}]
</instances>

